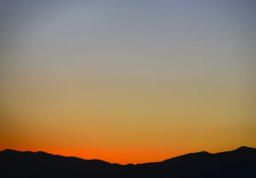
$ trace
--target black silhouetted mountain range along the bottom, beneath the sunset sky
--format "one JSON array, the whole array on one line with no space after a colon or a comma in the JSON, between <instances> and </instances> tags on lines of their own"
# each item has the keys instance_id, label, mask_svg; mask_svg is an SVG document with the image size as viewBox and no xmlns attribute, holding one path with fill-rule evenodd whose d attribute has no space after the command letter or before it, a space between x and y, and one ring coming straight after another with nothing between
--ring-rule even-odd
<instances>
[{"instance_id":1,"label":"black silhouetted mountain range along the bottom, beneath the sunset sky","mask_svg":"<svg viewBox=\"0 0 256 178\"><path fill-rule=\"evenodd\" d=\"M203 151L136 165L6 149L0 165L5 178L256 178L256 149Z\"/></svg>"}]
</instances>

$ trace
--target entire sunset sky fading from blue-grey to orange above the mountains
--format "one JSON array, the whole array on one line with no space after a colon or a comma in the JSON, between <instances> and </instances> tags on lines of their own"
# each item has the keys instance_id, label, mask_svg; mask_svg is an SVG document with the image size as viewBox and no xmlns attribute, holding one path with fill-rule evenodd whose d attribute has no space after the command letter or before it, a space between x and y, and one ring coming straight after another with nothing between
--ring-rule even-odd
<instances>
[{"instance_id":1,"label":"entire sunset sky fading from blue-grey to orange above the mountains","mask_svg":"<svg viewBox=\"0 0 256 178\"><path fill-rule=\"evenodd\" d=\"M253 0L3 0L0 150L137 164L256 147Z\"/></svg>"}]
</instances>

